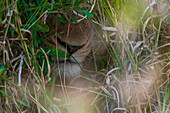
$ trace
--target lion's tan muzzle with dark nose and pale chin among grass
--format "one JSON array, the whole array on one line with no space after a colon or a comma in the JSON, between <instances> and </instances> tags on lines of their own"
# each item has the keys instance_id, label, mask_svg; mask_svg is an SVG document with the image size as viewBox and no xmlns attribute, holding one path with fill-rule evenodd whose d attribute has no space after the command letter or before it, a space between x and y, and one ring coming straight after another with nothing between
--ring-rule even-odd
<instances>
[{"instance_id":1,"label":"lion's tan muzzle with dark nose and pale chin among grass","mask_svg":"<svg viewBox=\"0 0 170 113\"><path fill-rule=\"evenodd\" d=\"M55 46L69 53L69 58L59 59L56 64L55 72L67 77L81 74L82 62L90 54L92 40L94 37L93 29L90 27L88 20L83 20L78 24L60 25L57 37L53 38Z\"/></svg>"}]
</instances>

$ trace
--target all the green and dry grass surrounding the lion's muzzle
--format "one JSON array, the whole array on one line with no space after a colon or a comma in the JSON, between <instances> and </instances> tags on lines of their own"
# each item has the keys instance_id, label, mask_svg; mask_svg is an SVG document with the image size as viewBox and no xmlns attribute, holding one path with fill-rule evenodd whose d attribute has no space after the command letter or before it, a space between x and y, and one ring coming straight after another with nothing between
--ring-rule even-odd
<instances>
[{"instance_id":1,"label":"all the green and dry grass surrounding the lion's muzzle","mask_svg":"<svg viewBox=\"0 0 170 113\"><path fill-rule=\"evenodd\" d=\"M165 38L169 36L168 27L163 26L169 25L170 7L156 13L152 9L154 4L157 3L145 6L140 0L94 0L92 3L88 0L1 0L0 111L80 112L79 107L70 107L70 103L77 101L81 105L83 101L93 106L94 113L168 113L170 43ZM44 44L62 33L56 33L56 27L70 20L79 21L72 16L73 10L92 22L102 40L100 46L106 46L109 53L94 62L99 64L96 69L100 74L96 79L99 77L100 81L81 75L75 78L100 84L92 89L77 88L83 91L79 96L69 92L75 87L55 84L52 65L56 53L58 57L68 57L68 53ZM55 21L59 21L57 26Z\"/></svg>"}]
</instances>

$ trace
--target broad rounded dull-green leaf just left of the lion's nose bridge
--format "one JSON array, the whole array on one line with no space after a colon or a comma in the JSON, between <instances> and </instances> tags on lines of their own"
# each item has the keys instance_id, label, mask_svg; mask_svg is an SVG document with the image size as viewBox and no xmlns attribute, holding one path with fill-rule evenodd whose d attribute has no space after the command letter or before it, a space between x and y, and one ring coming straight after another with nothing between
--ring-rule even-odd
<instances>
[{"instance_id":1,"label":"broad rounded dull-green leaf just left of the lion's nose bridge","mask_svg":"<svg viewBox=\"0 0 170 113\"><path fill-rule=\"evenodd\" d=\"M36 23L35 28L42 31L42 32L49 32L49 29L50 29L49 26L47 24L44 24L41 20L39 20Z\"/></svg>"}]
</instances>

